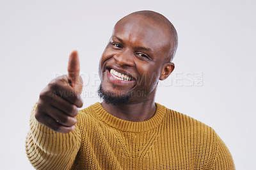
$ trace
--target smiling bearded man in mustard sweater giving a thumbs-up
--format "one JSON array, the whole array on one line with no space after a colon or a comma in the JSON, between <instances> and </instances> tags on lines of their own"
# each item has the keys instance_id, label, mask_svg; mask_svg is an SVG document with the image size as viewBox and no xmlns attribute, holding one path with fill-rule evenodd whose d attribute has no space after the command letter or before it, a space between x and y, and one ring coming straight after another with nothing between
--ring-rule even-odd
<instances>
[{"instance_id":1,"label":"smiling bearded man in mustard sweater giving a thumbs-up","mask_svg":"<svg viewBox=\"0 0 256 170\"><path fill-rule=\"evenodd\" d=\"M220 137L204 123L154 102L174 69L175 28L141 11L119 20L100 59L103 102L83 102L77 52L68 75L40 93L26 139L36 169L234 169ZM65 94L65 95L63 95Z\"/></svg>"}]
</instances>

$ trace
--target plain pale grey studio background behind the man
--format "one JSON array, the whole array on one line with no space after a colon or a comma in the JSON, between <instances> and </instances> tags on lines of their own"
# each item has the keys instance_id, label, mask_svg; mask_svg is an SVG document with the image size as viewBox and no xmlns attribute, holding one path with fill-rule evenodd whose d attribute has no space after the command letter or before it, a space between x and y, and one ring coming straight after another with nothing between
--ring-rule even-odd
<instances>
[{"instance_id":1,"label":"plain pale grey studio background behind the man","mask_svg":"<svg viewBox=\"0 0 256 170\"><path fill-rule=\"evenodd\" d=\"M25 152L40 91L78 50L84 107L99 101L97 69L115 22L138 10L170 19L175 70L156 102L216 130L237 169L255 169L255 1L0 1L0 169L33 169ZM196 85L199 74L200 84Z\"/></svg>"}]
</instances>

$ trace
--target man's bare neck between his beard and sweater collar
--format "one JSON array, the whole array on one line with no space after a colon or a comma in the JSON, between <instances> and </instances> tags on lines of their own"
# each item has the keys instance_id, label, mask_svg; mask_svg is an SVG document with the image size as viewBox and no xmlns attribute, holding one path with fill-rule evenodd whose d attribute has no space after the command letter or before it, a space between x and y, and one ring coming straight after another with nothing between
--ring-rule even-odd
<instances>
[{"instance_id":1,"label":"man's bare neck between his beard and sweater collar","mask_svg":"<svg viewBox=\"0 0 256 170\"><path fill-rule=\"evenodd\" d=\"M102 102L102 107L113 116L126 121L146 121L156 112L154 98L143 102L111 105Z\"/></svg>"}]
</instances>

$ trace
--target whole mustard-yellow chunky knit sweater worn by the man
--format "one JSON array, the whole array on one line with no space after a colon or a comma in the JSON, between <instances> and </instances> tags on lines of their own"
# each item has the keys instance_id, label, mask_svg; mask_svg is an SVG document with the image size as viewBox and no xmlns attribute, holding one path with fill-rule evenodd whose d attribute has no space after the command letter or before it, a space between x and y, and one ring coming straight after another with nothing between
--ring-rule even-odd
<instances>
[{"instance_id":1,"label":"whole mustard-yellow chunky knit sweater worn by the man","mask_svg":"<svg viewBox=\"0 0 256 170\"><path fill-rule=\"evenodd\" d=\"M148 121L124 121L96 103L74 131L54 132L30 118L26 153L36 169L235 169L211 127L156 104Z\"/></svg>"}]
</instances>

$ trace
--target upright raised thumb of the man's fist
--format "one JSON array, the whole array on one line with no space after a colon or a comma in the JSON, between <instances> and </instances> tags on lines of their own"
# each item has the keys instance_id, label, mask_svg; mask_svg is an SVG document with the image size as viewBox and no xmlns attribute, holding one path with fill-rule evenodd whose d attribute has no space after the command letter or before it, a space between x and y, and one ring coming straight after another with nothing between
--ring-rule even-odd
<instances>
[{"instance_id":1,"label":"upright raised thumb of the man's fist","mask_svg":"<svg viewBox=\"0 0 256 170\"><path fill-rule=\"evenodd\" d=\"M80 63L77 50L71 52L68 59L68 79L70 79L72 86L79 83L79 72L80 72Z\"/></svg>"}]
</instances>

